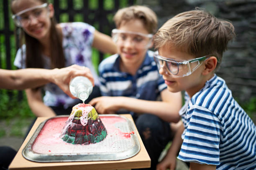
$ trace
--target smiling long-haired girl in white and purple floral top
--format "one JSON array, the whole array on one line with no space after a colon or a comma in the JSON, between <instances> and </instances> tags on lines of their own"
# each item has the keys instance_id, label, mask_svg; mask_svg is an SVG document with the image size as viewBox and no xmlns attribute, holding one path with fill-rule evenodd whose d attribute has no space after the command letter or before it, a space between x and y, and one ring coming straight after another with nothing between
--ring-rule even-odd
<instances>
[{"instance_id":1,"label":"smiling long-haired girl in white and purple floral top","mask_svg":"<svg viewBox=\"0 0 256 170\"><path fill-rule=\"evenodd\" d=\"M115 53L116 46L111 37L87 23L57 24L54 7L47 0L12 0L11 10L15 25L22 30L20 40L25 40L20 43L15 66L46 69L73 64L86 66L91 70L96 85L90 97L100 95L97 73L91 60L92 47L101 52ZM72 106L80 102L67 96L56 85L47 84L44 90L44 102L41 88L26 90L28 104L36 116L69 114Z\"/></svg>"}]
</instances>

